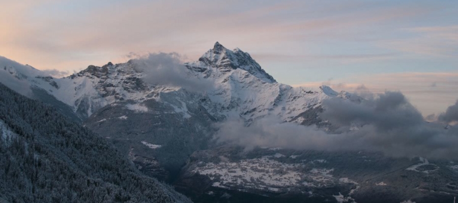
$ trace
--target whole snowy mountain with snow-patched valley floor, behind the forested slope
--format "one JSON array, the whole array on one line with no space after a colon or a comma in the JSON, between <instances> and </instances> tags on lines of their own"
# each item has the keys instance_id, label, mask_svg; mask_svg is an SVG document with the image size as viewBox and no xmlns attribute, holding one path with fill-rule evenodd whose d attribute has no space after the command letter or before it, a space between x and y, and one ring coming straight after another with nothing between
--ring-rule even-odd
<instances>
[{"instance_id":1,"label":"whole snowy mountain with snow-patched valley floor, behind the forested slope","mask_svg":"<svg viewBox=\"0 0 458 203\"><path fill-rule=\"evenodd\" d=\"M349 92L280 84L248 53L219 43L198 60L180 64L177 72L211 88L191 90L151 80L151 74L160 73L141 60L90 65L53 78L0 57L0 82L81 121L139 171L173 182L199 202L399 202L412 197L431 202L427 198L445 199L458 191L454 162L262 147L247 152L213 139L217 124L231 119L250 125L275 117L330 129L319 116L326 111L323 102L361 101ZM374 194L386 198L374 201Z\"/></svg>"}]
</instances>

